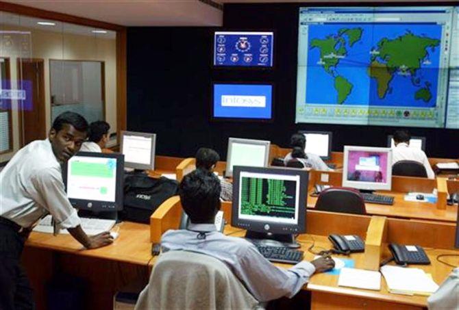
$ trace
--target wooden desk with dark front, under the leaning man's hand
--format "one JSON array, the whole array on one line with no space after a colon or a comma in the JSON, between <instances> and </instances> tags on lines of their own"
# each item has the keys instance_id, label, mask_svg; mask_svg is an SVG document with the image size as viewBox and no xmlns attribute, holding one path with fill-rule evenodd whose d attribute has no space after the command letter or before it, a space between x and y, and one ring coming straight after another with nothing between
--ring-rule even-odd
<instances>
[{"instance_id":1,"label":"wooden desk with dark front, under the leaning man's hand","mask_svg":"<svg viewBox=\"0 0 459 310\"><path fill-rule=\"evenodd\" d=\"M94 250L84 250L71 235L31 233L23 264L34 288L36 309L46 309L45 285L59 274L70 274L88 283L85 309L112 309L113 296L120 289L138 291L148 283L149 225L118 225L119 237L113 244Z\"/></svg>"}]
</instances>

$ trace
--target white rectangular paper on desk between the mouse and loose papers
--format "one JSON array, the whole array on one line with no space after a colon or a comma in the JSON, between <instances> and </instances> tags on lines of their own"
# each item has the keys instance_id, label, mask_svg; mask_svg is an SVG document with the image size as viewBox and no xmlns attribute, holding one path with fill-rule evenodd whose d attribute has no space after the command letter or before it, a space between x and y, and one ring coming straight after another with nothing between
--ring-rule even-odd
<instances>
[{"instance_id":1,"label":"white rectangular paper on desk between the mouse and loose papers","mask_svg":"<svg viewBox=\"0 0 459 310\"><path fill-rule=\"evenodd\" d=\"M381 274L377 271L341 268L338 286L379 291L381 289Z\"/></svg>"}]
</instances>

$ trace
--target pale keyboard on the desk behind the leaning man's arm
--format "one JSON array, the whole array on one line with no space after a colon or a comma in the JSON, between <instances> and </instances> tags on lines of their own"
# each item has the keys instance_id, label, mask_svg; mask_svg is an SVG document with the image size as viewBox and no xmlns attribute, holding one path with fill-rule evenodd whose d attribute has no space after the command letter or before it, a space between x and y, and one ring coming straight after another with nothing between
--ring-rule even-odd
<instances>
[{"instance_id":1,"label":"pale keyboard on the desk behind the leaning man's arm","mask_svg":"<svg viewBox=\"0 0 459 310\"><path fill-rule=\"evenodd\" d=\"M100 218L80 218L82 220L82 229L87 235L97 235L104 231L110 231L114 227L115 220L102 220ZM51 224L51 216L42 218L38 225L34 227L34 231L39 233L53 233L53 225ZM66 229L60 229L59 233L68 234Z\"/></svg>"}]
</instances>

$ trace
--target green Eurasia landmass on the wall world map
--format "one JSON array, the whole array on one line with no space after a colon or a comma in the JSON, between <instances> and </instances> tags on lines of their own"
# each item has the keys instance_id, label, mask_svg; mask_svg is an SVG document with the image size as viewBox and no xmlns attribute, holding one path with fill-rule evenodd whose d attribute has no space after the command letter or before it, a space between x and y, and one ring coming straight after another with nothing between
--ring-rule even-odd
<instances>
[{"instance_id":1,"label":"green Eurasia landmass on the wall world map","mask_svg":"<svg viewBox=\"0 0 459 310\"><path fill-rule=\"evenodd\" d=\"M416 73L416 70L421 68L421 63L427 57L427 48L438 47L440 40L416 36L411 32L407 32L403 36L399 36L393 40L384 38L377 43L377 55L386 62L390 72L401 70L405 72L409 70L411 75Z\"/></svg>"}]
</instances>

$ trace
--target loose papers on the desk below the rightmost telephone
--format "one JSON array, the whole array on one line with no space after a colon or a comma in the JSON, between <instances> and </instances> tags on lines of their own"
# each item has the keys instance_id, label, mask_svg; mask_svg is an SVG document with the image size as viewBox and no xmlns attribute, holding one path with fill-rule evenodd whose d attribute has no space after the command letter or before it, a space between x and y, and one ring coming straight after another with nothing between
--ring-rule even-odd
<instances>
[{"instance_id":1,"label":"loose papers on the desk below the rightmost telephone","mask_svg":"<svg viewBox=\"0 0 459 310\"><path fill-rule=\"evenodd\" d=\"M395 294L433 293L438 285L419 268L382 266L382 275L386 280L389 292Z\"/></svg>"}]
</instances>

